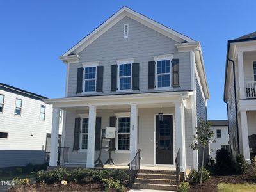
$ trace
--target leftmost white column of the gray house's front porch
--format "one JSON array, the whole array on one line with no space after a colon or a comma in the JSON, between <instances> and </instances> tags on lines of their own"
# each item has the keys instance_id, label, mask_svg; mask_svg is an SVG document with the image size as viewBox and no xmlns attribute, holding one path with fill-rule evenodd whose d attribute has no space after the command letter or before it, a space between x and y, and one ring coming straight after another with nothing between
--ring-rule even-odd
<instances>
[{"instance_id":1,"label":"leftmost white column of the gray house's front porch","mask_svg":"<svg viewBox=\"0 0 256 192\"><path fill-rule=\"evenodd\" d=\"M52 133L51 133L51 152L49 166L57 166L58 161L58 139L59 139L59 118L60 109L54 107L52 111Z\"/></svg>"}]
</instances>

